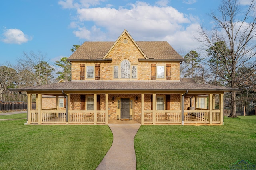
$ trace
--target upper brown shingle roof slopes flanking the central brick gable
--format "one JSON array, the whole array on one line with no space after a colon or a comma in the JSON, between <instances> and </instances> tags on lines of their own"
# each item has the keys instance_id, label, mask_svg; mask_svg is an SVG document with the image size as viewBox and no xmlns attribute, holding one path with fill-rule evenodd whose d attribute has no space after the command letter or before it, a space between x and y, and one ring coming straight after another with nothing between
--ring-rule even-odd
<instances>
[{"instance_id":1,"label":"upper brown shingle roof slopes flanking the central brick gable","mask_svg":"<svg viewBox=\"0 0 256 170\"><path fill-rule=\"evenodd\" d=\"M167 42L138 41L136 43L148 58L184 60ZM113 44L114 42L84 42L68 60L102 59Z\"/></svg>"}]
</instances>

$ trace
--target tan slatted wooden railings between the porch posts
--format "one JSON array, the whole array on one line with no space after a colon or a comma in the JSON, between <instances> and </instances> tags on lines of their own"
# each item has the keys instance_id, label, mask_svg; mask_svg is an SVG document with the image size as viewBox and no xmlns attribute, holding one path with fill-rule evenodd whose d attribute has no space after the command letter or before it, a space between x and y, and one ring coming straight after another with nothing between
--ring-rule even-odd
<instances>
[{"instance_id":1,"label":"tan slatted wooden railings between the porch posts","mask_svg":"<svg viewBox=\"0 0 256 170\"><path fill-rule=\"evenodd\" d=\"M96 116L96 118L94 118ZM68 121L66 111L38 110L30 111L30 124L106 124L105 111L81 111L69 110ZM171 111L144 111L144 124L181 124L181 110ZM119 120L120 121L120 120ZM138 121L140 122L140 121ZM220 124L223 119L220 110L214 110L210 116L210 110L186 110L184 111L184 123ZM141 122L140 122L141 123Z\"/></svg>"}]
</instances>

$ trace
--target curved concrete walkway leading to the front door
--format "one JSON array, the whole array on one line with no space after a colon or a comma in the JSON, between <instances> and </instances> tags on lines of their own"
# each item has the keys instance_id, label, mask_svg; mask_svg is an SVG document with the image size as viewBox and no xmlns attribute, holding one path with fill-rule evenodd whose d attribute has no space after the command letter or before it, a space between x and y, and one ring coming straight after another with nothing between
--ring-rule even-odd
<instances>
[{"instance_id":1,"label":"curved concrete walkway leading to the front door","mask_svg":"<svg viewBox=\"0 0 256 170\"><path fill-rule=\"evenodd\" d=\"M134 137L140 124L109 124L113 143L96 170L136 170Z\"/></svg>"}]
</instances>

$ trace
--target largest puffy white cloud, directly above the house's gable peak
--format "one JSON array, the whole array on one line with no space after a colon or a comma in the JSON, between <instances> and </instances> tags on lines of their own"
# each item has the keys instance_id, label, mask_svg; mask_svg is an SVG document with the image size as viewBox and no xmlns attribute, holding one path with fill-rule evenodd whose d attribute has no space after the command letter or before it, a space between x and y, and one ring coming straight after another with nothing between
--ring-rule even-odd
<instances>
[{"instance_id":1,"label":"largest puffy white cloud, directly above the house's gable peak","mask_svg":"<svg viewBox=\"0 0 256 170\"><path fill-rule=\"evenodd\" d=\"M124 29L139 33L140 37L163 37L181 29L182 24L190 23L189 18L173 7L150 6L143 2L132 4L130 9L82 8L77 10L77 14L81 23L94 22L97 27L108 30L108 37L116 37L116 33ZM81 38L88 37L75 33Z\"/></svg>"}]
</instances>

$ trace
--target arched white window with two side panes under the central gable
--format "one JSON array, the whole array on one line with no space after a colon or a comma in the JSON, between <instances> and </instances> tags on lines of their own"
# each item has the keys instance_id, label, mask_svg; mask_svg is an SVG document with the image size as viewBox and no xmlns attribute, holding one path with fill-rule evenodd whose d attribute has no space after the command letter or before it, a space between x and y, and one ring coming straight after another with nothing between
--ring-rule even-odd
<instances>
[{"instance_id":1,"label":"arched white window with two side panes under the central gable","mask_svg":"<svg viewBox=\"0 0 256 170\"><path fill-rule=\"evenodd\" d=\"M137 79L137 65L131 65L130 61L122 60L120 65L114 66L114 79Z\"/></svg>"}]
</instances>

